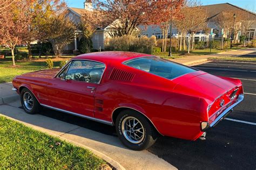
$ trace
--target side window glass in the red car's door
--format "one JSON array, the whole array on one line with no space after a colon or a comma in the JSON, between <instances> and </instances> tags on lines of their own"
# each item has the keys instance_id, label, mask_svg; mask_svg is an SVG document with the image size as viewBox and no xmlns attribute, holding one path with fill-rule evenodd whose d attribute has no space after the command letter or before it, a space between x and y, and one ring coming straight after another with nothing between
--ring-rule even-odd
<instances>
[{"instance_id":1,"label":"side window glass in the red car's door","mask_svg":"<svg viewBox=\"0 0 256 170\"><path fill-rule=\"evenodd\" d=\"M104 69L105 65L102 63L74 60L66 73L65 79L98 84Z\"/></svg>"}]
</instances>

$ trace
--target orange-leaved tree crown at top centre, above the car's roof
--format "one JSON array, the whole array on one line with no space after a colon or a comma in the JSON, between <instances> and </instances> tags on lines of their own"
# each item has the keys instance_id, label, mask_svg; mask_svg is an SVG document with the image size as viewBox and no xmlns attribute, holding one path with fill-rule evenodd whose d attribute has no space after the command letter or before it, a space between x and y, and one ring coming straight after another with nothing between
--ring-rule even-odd
<instances>
[{"instance_id":1,"label":"orange-leaved tree crown at top centre, above the car's roof","mask_svg":"<svg viewBox=\"0 0 256 170\"><path fill-rule=\"evenodd\" d=\"M183 1L98 0L96 6L98 10L106 11L109 19L113 21L110 25L112 31L123 36L132 35L139 25L156 25L170 21Z\"/></svg>"}]
</instances>

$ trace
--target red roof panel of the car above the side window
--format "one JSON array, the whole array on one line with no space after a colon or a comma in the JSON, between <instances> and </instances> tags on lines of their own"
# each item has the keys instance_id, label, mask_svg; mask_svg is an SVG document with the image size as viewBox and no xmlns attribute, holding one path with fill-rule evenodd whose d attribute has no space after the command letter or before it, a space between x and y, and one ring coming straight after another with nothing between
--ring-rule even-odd
<instances>
[{"instance_id":1,"label":"red roof panel of the car above the side window","mask_svg":"<svg viewBox=\"0 0 256 170\"><path fill-rule=\"evenodd\" d=\"M72 59L88 59L88 60L95 60L96 62L109 64L109 63L122 63L126 60L130 60L138 57L152 57L152 55L138 53L138 52L127 52L127 51L103 51L103 52L86 53L84 55L79 55Z\"/></svg>"}]
</instances>

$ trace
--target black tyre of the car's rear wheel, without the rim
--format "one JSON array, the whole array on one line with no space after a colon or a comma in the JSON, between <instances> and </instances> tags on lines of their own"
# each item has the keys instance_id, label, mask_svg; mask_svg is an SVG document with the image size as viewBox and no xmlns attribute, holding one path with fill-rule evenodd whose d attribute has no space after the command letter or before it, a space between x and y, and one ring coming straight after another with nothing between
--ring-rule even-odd
<instances>
[{"instance_id":1,"label":"black tyre of the car's rear wheel, without the rim","mask_svg":"<svg viewBox=\"0 0 256 170\"><path fill-rule=\"evenodd\" d=\"M137 142L139 142L137 144L134 144L133 142L129 141L129 139L126 139L129 137L127 137L127 135L125 137L124 133L126 133L126 134L129 134L129 133L123 132L124 128L122 128L123 121L126 122L129 119L132 120L132 118L136 118L137 120L139 120L139 123L142 124L143 129L144 129L144 137L140 139L142 141L140 141L140 140L139 140L140 142L137 141ZM125 126L125 123L124 123L124 126ZM140 128L140 129L142 129L142 128ZM118 114L117 119L116 119L116 131L117 131L118 138L122 141L122 143L126 147L136 150L136 151L142 151L143 149L151 147L154 144L154 142L156 142L157 137L158 137L158 132L153 127L153 125L149 122L149 120L147 120L144 117L144 115L142 115L141 113L134 111L134 110L124 110ZM131 132L131 128L129 131ZM134 131L134 130L132 130L132 131ZM134 132L134 133L136 133L136 132ZM130 135L130 138L131 138L131 135Z\"/></svg>"}]
</instances>

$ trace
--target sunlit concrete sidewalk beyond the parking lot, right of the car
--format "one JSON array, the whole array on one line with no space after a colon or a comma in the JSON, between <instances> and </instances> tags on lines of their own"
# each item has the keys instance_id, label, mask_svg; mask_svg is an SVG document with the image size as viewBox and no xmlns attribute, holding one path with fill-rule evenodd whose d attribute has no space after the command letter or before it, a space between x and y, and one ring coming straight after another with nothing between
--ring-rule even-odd
<instances>
[{"instance_id":1,"label":"sunlit concrete sidewalk beyond the parking lot, right of the car","mask_svg":"<svg viewBox=\"0 0 256 170\"><path fill-rule=\"evenodd\" d=\"M256 49L241 49L241 50L232 50L226 52L215 53L211 55L203 55L203 56L188 56L183 58L177 59L170 59L173 62L184 64L184 65L194 65L198 63L205 63L207 62L209 57L238 57L241 55L246 55L248 53L255 52Z\"/></svg>"}]
</instances>

